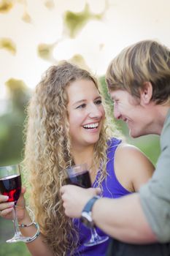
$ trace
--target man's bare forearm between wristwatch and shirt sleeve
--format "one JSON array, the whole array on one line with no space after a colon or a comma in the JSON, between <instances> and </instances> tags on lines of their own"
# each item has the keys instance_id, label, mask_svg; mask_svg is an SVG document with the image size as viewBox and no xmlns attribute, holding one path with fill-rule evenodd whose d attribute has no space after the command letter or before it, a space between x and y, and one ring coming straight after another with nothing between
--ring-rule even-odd
<instances>
[{"instance_id":1,"label":"man's bare forearm between wristwatch and shirt sleeve","mask_svg":"<svg viewBox=\"0 0 170 256\"><path fill-rule=\"evenodd\" d=\"M138 193L114 200L97 200L92 217L101 230L120 241L133 244L157 241L142 211Z\"/></svg>"}]
</instances>

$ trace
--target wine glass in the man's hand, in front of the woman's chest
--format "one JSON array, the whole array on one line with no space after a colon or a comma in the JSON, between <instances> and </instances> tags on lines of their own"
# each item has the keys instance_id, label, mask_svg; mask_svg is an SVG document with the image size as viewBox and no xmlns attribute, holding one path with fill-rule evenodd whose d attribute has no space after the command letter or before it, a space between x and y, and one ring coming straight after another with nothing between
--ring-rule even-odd
<instances>
[{"instance_id":1,"label":"wine glass in the man's hand, in front of the woman's chest","mask_svg":"<svg viewBox=\"0 0 170 256\"><path fill-rule=\"evenodd\" d=\"M87 189L90 188L91 181L87 164L73 165L67 168L65 181L66 184L77 185ZM95 227L90 228L90 232L91 238L84 244L85 246L101 244L109 239L109 236L99 236Z\"/></svg>"}]
</instances>

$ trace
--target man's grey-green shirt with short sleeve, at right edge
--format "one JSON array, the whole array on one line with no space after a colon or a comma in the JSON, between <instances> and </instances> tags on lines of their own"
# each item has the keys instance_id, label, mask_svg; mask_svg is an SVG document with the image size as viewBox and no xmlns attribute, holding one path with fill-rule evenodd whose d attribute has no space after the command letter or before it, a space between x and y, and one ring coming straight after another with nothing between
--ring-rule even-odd
<instances>
[{"instance_id":1,"label":"man's grey-green shirt with short sleeve, at right edge","mask_svg":"<svg viewBox=\"0 0 170 256\"><path fill-rule=\"evenodd\" d=\"M153 149L154 150L154 149ZM161 243L170 241L170 117L161 134L161 156L155 173L139 190L142 209Z\"/></svg>"}]
</instances>

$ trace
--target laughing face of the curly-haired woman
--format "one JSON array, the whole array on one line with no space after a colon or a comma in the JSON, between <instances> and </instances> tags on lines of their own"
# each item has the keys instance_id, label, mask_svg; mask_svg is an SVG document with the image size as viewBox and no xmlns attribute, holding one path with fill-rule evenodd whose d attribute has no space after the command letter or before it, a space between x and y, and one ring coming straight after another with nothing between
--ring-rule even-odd
<instances>
[{"instance_id":1,"label":"laughing face of the curly-haired woman","mask_svg":"<svg viewBox=\"0 0 170 256\"><path fill-rule=\"evenodd\" d=\"M98 89L91 80L76 80L66 91L72 146L82 148L96 143L105 117Z\"/></svg>"}]
</instances>

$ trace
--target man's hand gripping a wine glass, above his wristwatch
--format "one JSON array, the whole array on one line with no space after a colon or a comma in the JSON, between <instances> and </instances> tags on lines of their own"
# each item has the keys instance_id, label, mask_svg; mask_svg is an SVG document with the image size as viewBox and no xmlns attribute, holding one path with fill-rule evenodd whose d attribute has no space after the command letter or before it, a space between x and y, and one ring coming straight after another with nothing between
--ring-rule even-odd
<instances>
[{"instance_id":1,"label":"man's hand gripping a wine glass, above his wristwatch","mask_svg":"<svg viewBox=\"0 0 170 256\"><path fill-rule=\"evenodd\" d=\"M101 193L101 189L83 189L74 185L65 185L61 187L61 198L63 200L63 207L65 214L71 218L80 218L82 209L88 200L95 195Z\"/></svg>"}]
</instances>

